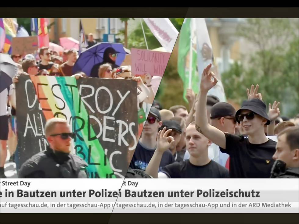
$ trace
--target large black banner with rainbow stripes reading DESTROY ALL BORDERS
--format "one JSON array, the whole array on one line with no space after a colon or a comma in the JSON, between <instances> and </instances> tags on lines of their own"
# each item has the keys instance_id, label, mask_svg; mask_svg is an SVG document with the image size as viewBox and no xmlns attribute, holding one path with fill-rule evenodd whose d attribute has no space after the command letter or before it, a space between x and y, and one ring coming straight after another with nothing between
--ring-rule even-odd
<instances>
[{"instance_id":1,"label":"large black banner with rainbow stripes reading DESTROY ALL BORDERS","mask_svg":"<svg viewBox=\"0 0 299 224\"><path fill-rule=\"evenodd\" d=\"M21 75L16 85L19 161L49 145L48 119L66 119L71 150L88 164L88 178L124 178L137 145L137 83L133 80Z\"/></svg>"}]
</instances>

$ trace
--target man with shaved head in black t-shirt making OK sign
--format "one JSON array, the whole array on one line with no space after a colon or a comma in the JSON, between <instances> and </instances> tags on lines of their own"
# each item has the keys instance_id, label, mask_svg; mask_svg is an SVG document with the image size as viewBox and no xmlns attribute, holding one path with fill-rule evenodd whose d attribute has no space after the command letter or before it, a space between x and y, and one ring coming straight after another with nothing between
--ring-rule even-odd
<instances>
[{"instance_id":1,"label":"man with shaved head in black t-shirt making OK sign","mask_svg":"<svg viewBox=\"0 0 299 224\"><path fill-rule=\"evenodd\" d=\"M158 133L157 150L155 151L146 173L153 178L229 178L229 171L208 157L208 147L212 142L195 129L195 122L186 129L186 147L190 159L165 166L159 172L158 165L165 150L171 148L174 139L166 127ZM167 137L168 136L168 137Z\"/></svg>"}]
</instances>

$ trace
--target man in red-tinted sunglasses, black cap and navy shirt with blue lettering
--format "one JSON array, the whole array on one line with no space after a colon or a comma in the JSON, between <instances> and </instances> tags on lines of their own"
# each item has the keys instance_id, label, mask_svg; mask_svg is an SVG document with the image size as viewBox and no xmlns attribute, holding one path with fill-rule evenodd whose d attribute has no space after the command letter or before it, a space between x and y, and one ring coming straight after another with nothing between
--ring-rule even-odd
<instances>
[{"instance_id":1,"label":"man in red-tinted sunglasses, black cap and navy shirt with blue lettering","mask_svg":"<svg viewBox=\"0 0 299 224\"><path fill-rule=\"evenodd\" d=\"M146 170L146 167L157 148L157 133L161 125L162 121L159 110L152 107L143 127L141 138L139 139L131 159L130 167L132 169ZM158 164L158 169L162 169L162 167L173 162L175 162L175 158L170 150L167 149L162 155L161 161Z\"/></svg>"}]
</instances>

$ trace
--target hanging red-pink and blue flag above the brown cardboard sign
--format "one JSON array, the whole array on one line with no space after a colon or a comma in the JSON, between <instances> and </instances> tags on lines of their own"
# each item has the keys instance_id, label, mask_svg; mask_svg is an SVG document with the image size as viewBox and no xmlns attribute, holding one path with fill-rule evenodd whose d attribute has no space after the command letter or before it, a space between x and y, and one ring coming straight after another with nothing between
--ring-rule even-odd
<instances>
[{"instance_id":1,"label":"hanging red-pink and blue flag above the brown cardboard sign","mask_svg":"<svg viewBox=\"0 0 299 224\"><path fill-rule=\"evenodd\" d=\"M32 18L31 19L31 35L38 36L38 48L49 47L49 21L46 18Z\"/></svg>"}]
</instances>

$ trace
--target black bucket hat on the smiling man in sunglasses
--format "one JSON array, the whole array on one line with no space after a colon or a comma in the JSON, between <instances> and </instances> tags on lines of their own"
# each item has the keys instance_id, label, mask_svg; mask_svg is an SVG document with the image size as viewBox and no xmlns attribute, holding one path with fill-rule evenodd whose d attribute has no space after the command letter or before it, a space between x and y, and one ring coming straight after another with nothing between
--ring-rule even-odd
<instances>
[{"instance_id":1,"label":"black bucket hat on the smiling man in sunglasses","mask_svg":"<svg viewBox=\"0 0 299 224\"><path fill-rule=\"evenodd\" d=\"M254 98L251 100L244 100L241 108L236 112L236 120L238 121L237 116L240 115L241 110L251 110L252 112L262 116L267 119L266 125L270 124L270 120L268 114L266 112L266 104L258 98Z\"/></svg>"}]
</instances>

